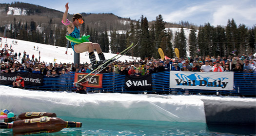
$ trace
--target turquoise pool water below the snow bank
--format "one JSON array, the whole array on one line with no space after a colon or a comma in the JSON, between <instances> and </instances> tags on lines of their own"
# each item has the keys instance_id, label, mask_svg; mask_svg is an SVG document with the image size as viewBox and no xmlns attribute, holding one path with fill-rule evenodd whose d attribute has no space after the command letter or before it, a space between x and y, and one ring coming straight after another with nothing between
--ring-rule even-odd
<instances>
[{"instance_id":1,"label":"turquoise pool water below the snow bank","mask_svg":"<svg viewBox=\"0 0 256 136\"><path fill-rule=\"evenodd\" d=\"M252 126L212 126L205 123L181 123L145 120L90 119L60 117L82 122L82 128L65 128L58 133L33 136L256 136ZM12 136L10 129L1 129L0 136Z\"/></svg>"}]
</instances>

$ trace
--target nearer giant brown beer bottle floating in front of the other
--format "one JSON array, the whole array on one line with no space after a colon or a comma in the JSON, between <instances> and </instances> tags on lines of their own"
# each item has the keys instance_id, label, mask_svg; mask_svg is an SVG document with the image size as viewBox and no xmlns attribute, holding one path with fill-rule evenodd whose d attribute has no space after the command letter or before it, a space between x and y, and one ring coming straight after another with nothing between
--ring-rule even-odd
<instances>
[{"instance_id":1,"label":"nearer giant brown beer bottle floating in front of the other","mask_svg":"<svg viewBox=\"0 0 256 136\"><path fill-rule=\"evenodd\" d=\"M13 123L0 123L1 129L13 129L14 135L31 135L59 132L63 128L79 128L80 122L64 121L59 117L39 117L17 120Z\"/></svg>"}]
</instances>

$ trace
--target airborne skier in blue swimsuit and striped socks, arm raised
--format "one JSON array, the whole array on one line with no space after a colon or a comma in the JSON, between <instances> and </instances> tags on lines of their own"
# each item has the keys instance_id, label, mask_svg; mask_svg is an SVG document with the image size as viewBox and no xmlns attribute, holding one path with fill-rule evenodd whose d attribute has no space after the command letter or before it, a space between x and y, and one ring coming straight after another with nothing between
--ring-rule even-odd
<instances>
[{"instance_id":1,"label":"airborne skier in blue swimsuit and striped socks, arm raised","mask_svg":"<svg viewBox=\"0 0 256 136\"><path fill-rule=\"evenodd\" d=\"M61 22L68 27L67 31L71 37L79 39L80 38L79 26L83 23L83 17L81 14L77 13L72 18L73 22L70 22L67 19L68 8L69 8L68 3L65 5L65 7L66 7L66 11L63 14ZM76 53L82 53L82 52L88 51L93 69L97 68L105 60L104 54L102 53L98 43L83 42L83 43L77 44L77 43L71 42L71 47ZM96 60L94 49L96 49L100 61Z\"/></svg>"}]
</instances>

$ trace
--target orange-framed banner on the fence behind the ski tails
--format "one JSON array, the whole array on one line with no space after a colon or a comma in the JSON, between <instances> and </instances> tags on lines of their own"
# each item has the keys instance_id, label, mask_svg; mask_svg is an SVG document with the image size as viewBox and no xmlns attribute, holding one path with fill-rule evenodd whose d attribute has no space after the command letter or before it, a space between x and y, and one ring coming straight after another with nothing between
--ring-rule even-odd
<instances>
[{"instance_id":1,"label":"orange-framed banner on the fence behind the ski tails","mask_svg":"<svg viewBox=\"0 0 256 136\"><path fill-rule=\"evenodd\" d=\"M75 73L75 82L79 81L83 76L88 75L88 73ZM87 79L91 78L95 74L90 74L88 77L83 79L81 82L85 82ZM92 79L90 79L86 83L82 83L85 87L95 87L95 88L102 88L102 74L97 74Z\"/></svg>"}]
</instances>

